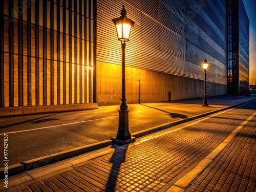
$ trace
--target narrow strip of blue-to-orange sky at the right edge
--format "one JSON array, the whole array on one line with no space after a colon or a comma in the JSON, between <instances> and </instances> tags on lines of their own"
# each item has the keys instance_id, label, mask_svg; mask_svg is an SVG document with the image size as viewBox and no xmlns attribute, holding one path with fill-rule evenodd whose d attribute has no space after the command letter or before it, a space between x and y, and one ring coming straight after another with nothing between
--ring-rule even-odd
<instances>
[{"instance_id":1,"label":"narrow strip of blue-to-orange sky at the right edge","mask_svg":"<svg viewBox=\"0 0 256 192\"><path fill-rule=\"evenodd\" d=\"M243 0L249 18L249 83L256 84L256 1Z\"/></svg>"}]
</instances>

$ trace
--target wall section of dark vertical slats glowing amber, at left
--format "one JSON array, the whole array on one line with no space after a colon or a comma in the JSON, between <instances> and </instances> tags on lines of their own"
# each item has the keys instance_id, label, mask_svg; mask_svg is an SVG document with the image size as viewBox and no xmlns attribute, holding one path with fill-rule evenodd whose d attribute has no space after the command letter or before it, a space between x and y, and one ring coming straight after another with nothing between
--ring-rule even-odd
<instances>
[{"instance_id":1,"label":"wall section of dark vertical slats glowing amber, at left","mask_svg":"<svg viewBox=\"0 0 256 192\"><path fill-rule=\"evenodd\" d=\"M5 0L0 7L0 106L95 101L94 0Z\"/></svg>"}]
</instances>

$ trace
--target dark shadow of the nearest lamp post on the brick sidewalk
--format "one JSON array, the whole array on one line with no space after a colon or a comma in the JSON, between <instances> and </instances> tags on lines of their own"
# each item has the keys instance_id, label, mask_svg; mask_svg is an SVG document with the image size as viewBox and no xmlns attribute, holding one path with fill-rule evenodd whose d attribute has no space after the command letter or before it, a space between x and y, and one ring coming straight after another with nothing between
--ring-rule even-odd
<instances>
[{"instance_id":1,"label":"dark shadow of the nearest lamp post on the brick sidewalk","mask_svg":"<svg viewBox=\"0 0 256 192\"><path fill-rule=\"evenodd\" d=\"M115 151L110 159L112 163L112 167L110 170L108 184L106 185L106 192L113 192L115 191L115 186L117 182L117 178L119 175L120 166L123 162L125 162L125 153L127 151L129 144L120 145L114 144L112 145L115 148Z\"/></svg>"}]
</instances>

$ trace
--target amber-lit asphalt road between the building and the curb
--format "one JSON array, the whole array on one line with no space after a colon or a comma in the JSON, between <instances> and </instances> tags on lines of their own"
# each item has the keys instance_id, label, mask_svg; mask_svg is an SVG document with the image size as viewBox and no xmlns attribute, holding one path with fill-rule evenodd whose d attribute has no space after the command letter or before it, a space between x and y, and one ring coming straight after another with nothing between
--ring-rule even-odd
<instances>
[{"instance_id":1,"label":"amber-lit asphalt road between the building and the curb","mask_svg":"<svg viewBox=\"0 0 256 192\"><path fill-rule=\"evenodd\" d=\"M225 99L227 105L237 102ZM209 104L210 101L208 99ZM226 106L223 99L220 103L212 100L214 104L210 104L209 108L202 107L201 102L201 99L194 99L187 102L129 104L130 132L135 133ZM115 137L118 110L119 105L112 105L101 106L97 110L0 118L1 143L3 134L8 135L9 165Z\"/></svg>"}]
</instances>

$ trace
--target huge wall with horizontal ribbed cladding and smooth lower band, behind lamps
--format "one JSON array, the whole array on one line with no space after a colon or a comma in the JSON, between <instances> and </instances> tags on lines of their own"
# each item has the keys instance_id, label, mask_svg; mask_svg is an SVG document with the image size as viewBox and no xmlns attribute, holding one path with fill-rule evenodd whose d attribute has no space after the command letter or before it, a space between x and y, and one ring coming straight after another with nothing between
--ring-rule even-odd
<instances>
[{"instance_id":1,"label":"huge wall with horizontal ribbed cladding and smooth lower band, behind lamps","mask_svg":"<svg viewBox=\"0 0 256 192\"><path fill-rule=\"evenodd\" d=\"M127 103L138 102L139 77L142 102L168 100L168 92L172 100L202 97L205 58L208 95L226 94L225 2L98 0L98 104L120 103L121 46L112 18L120 16L122 5L136 22L125 49Z\"/></svg>"}]
</instances>

